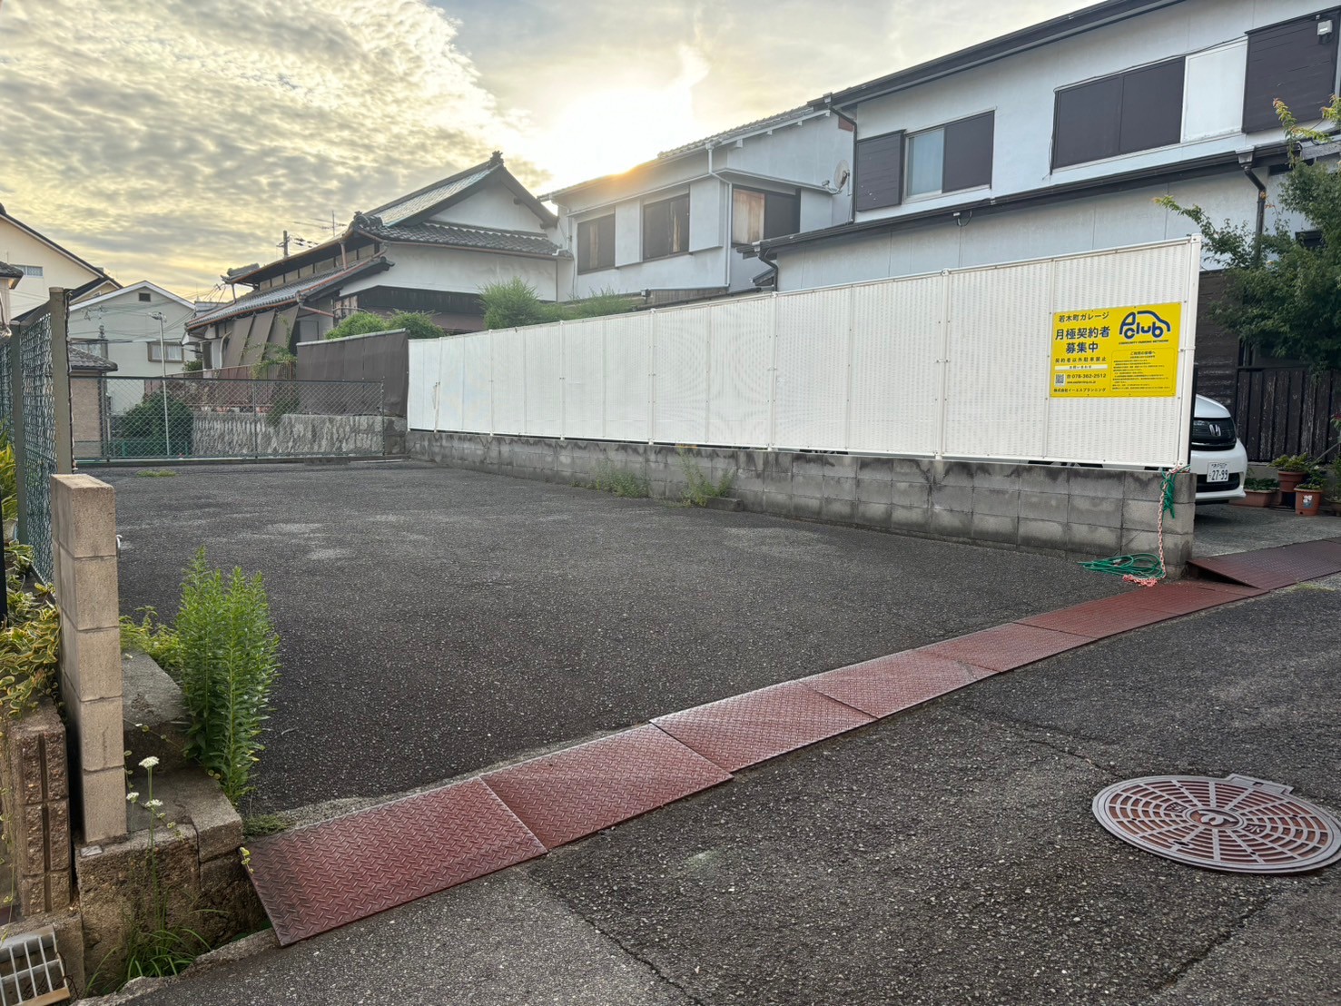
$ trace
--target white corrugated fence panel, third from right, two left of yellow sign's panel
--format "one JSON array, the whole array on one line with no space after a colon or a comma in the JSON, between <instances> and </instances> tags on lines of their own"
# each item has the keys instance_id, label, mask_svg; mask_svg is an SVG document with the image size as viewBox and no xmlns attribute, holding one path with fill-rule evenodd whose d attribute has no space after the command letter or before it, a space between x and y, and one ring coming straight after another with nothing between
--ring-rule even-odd
<instances>
[{"instance_id":1,"label":"white corrugated fence panel, third from right, two left of yellow sign's panel","mask_svg":"<svg viewBox=\"0 0 1341 1006\"><path fill-rule=\"evenodd\" d=\"M945 276L853 287L849 451L940 447Z\"/></svg>"}]
</instances>

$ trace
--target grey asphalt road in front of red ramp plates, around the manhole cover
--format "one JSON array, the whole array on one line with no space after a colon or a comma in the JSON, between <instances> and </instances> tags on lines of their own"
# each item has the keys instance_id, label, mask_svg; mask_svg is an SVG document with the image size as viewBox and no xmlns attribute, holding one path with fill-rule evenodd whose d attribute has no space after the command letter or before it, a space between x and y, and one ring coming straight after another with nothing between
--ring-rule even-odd
<instances>
[{"instance_id":1,"label":"grey asphalt road in front of red ramp plates, around the manhole cover","mask_svg":"<svg viewBox=\"0 0 1341 1006\"><path fill-rule=\"evenodd\" d=\"M1341 577L1132 632L143 1006L1341 1002L1341 867L1242 876L1090 799L1243 773L1341 810Z\"/></svg>"}]
</instances>

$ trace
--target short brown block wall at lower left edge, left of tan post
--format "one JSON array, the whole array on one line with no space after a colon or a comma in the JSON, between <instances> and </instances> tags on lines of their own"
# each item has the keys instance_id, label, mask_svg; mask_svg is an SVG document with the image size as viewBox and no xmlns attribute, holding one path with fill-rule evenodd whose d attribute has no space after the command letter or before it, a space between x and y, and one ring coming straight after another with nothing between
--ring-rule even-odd
<instances>
[{"instance_id":1,"label":"short brown block wall at lower left edge, left of tan post","mask_svg":"<svg viewBox=\"0 0 1341 1006\"><path fill-rule=\"evenodd\" d=\"M3 803L24 917L70 904L70 773L66 727L50 699L3 734Z\"/></svg>"}]
</instances>

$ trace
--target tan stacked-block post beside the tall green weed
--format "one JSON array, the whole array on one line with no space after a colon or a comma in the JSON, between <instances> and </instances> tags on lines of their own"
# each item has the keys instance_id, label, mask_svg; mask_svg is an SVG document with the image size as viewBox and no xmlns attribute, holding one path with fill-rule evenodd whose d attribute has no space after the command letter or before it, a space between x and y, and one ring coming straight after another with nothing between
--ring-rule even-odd
<instances>
[{"instance_id":1,"label":"tan stacked-block post beside the tall green weed","mask_svg":"<svg viewBox=\"0 0 1341 1006\"><path fill-rule=\"evenodd\" d=\"M90 475L51 476L51 551L60 610L60 692L70 716L71 795L84 844L126 834L117 496Z\"/></svg>"}]
</instances>

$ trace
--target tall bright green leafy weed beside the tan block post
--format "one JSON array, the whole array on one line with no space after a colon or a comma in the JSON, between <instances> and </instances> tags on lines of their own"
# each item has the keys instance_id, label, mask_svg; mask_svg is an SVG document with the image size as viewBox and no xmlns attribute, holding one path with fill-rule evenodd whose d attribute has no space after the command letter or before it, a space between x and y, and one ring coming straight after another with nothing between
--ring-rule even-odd
<instances>
[{"instance_id":1,"label":"tall bright green leafy weed beside the tan block post","mask_svg":"<svg viewBox=\"0 0 1341 1006\"><path fill-rule=\"evenodd\" d=\"M248 578L235 569L225 579L209 569L201 549L186 567L176 630L190 716L186 755L237 803L252 790L251 770L263 750L260 732L278 673L279 636L260 574Z\"/></svg>"}]
</instances>

